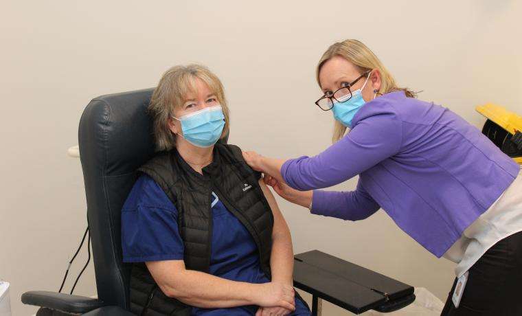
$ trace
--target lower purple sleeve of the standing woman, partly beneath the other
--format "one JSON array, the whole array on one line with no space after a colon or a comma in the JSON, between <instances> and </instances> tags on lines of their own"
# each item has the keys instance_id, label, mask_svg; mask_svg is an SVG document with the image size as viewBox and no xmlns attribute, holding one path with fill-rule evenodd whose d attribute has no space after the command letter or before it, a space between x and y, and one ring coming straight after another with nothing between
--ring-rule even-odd
<instances>
[{"instance_id":1,"label":"lower purple sleeve of the standing woman, partly beneath the other","mask_svg":"<svg viewBox=\"0 0 522 316\"><path fill-rule=\"evenodd\" d=\"M346 221L360 221L381 208L368 194L361 182L350 192L315 190L312 199L312 214L341 218Z\"/></svg>"}]
</instances>

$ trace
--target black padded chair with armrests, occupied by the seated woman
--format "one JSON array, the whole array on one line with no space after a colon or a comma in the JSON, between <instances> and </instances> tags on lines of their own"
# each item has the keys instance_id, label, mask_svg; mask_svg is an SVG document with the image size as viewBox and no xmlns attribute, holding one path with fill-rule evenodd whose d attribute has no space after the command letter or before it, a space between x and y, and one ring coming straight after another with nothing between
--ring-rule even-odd
<instances>
[{"instance_id":1,"label":"black padded chair with armrests, occupied by the seated woman","mask_svg":"<svg viewBox=\"0 0 522 316\"><path fill-rule=\"evenodd\" d=\"M98 298L24 293L24 304L41 306L37 316L133 315L127 311L131 264L122 262L120 210L135 183L135 170L155 153L146 114L151 94L152 89L144 89L104 95L85 108L78 144ZM411 286L320 251L297 255L295 263L295 286L314 295L315 313L320 313L321 298L354 313L395 311L415 298Z\"/></svg>"}]
</instances>

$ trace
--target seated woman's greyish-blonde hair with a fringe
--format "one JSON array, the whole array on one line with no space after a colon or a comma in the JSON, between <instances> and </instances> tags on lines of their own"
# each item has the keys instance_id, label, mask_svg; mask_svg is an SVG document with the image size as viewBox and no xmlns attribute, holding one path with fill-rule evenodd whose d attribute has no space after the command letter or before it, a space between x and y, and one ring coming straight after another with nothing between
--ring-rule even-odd
<instances>
[{"instance_id":1,"label":"seated woman's greyish-blonde hair with a fringe","mask_svg":"<svg viewBox=\"0 0 522 316\"><path fill-rule=\"evenodd\" d=\"M225 115L225 127L221 137L229 133L229 109L225 89L219 78L202 65L174 66L168 69L154 89L148 112L152 116L152 128L157 150L171 150L176 146L176 136L170 131L168 122L174 109L183 106L188 93L197 93L196 78L203 80L216 95Z\"/></svg>"}]
</instances>

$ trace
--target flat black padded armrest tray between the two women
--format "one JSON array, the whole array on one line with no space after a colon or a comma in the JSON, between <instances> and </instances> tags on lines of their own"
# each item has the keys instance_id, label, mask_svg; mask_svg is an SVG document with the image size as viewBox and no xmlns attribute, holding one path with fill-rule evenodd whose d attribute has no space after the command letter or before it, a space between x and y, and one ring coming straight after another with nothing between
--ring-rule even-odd
<instances>
[{"instance_id":1,"label":"flat black padded armrest tray between the two women","mask_svg":"<svg viewBox=\"0 0 522 316\"><path fill-rule=\"evenodd\" d=\"M318 250L299 253L294 260L294 285L346 310L360 314L391 301L413 302L413 287L386 275ZM408 300L401 300L408 297ZM404 306L396 304L397 309Z\"/></svg>"}]
</instances>

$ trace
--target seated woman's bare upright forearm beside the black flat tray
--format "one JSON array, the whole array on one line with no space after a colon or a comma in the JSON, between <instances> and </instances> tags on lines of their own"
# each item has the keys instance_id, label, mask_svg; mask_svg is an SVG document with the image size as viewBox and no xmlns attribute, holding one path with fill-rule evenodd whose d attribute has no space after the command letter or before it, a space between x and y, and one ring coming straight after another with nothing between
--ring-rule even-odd
<instances>
[{"instance_id":1,"label":"seated woman's bare upright forearm beside the black flat tray","mask_svg":"<svg viewBox=\"0 0 522 316\"><path fill-rule=\"evenodd\" d=\"M293 284L293 247L290 232L275 236L272 242L270 267L272 282Z\"/></svg>"}]
</instances>

